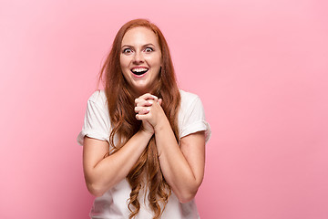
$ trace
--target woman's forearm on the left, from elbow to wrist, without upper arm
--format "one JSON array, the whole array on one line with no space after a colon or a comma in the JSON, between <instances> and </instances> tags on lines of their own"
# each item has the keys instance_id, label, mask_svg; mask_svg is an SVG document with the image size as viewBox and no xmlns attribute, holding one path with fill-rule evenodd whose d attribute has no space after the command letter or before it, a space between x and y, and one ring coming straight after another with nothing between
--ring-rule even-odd
<instances>
[{"instance_id":1,"label":"woman's forearm on the left, from elbow to wrist, without upper arm","mask_svg":"<svg viewBox=\"0 0 328 219\"><path fill-rule=\"evenodd\" d=\"M149 132L139 130L117 152L97 162L94 167L85 170L89 191L100 196L125 179L145 150L150 138Z\"/></svg>"}]
</instances>

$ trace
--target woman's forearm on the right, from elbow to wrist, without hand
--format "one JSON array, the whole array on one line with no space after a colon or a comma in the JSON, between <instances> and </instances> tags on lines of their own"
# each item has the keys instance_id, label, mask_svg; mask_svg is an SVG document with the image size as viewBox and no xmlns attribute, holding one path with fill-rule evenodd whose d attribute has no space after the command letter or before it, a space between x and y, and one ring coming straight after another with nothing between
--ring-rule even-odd
<instances>
[{"instance_id":1,"label":"woman's forearm on the right, from elbow to wrist, without hand","mask_svg":"<svg viewBox=\"0 0 328 219\"><path fill-rule=\"evenodd\" d=\"M155 138L160 168L166 181L180 202L189 202L200 187L202 174L193 172L190 163L179 148L169 120L155 130Z\"/></svg>"}]
</instances>

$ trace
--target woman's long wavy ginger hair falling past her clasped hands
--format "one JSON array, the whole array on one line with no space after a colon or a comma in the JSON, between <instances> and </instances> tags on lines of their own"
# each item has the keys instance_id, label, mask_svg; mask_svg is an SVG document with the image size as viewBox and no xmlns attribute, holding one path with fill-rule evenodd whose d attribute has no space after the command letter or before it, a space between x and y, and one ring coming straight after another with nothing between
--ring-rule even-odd
<instances>
[{"instance_id":1,"label":"woman's long wavy ginger hair falling past her clasped hands","mask_svg":"<svg viewBox=\"0 0 328 219\"><path fill-rule=\"evenodd\" d=\"M150 93L162 99L161 107L169 120L176 140L179 142L178 111L180 95L172 60L169 55L168 43L158 26L145 19L136 19L129 21L119 29L99 76L99 80L105 81L108 111L112 125L109 136L110 153L118 151L141 126L141 121L136 119L134 111L134 99L138 98L138 96L124 78L119 62L123 36L129 29L136 26L149 28L158 38L162 66L157 83L151 88ZM118 137L118 141L114 141L114 136ZM145 177L147 179L146 184L144 184L143 180ZM153 218L158 219L169 201L171 189L160 170L159 154L154 136L150 139L138 162L135 163L128 173L127 180L131 187L128 200L128 209L131 212L129 218L131 219L138 214L140 209L138 194L140 189L145 186L149 189L149 207L154 213Z\"/></svg>"}]
</instances>

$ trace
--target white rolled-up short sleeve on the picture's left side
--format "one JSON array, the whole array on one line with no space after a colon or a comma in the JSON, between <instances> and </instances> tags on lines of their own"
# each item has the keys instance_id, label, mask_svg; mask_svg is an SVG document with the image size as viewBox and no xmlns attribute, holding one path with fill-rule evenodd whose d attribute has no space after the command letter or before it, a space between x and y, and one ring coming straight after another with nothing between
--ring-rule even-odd
<instances>
[{"instance_id":1,"label":"white rolled-up short sleeve on the picture's left side","mask_svg":"<svg viewBox=\"0 0 328 219\"><path fill-rule=\"evenodd\" d=\"M96 91L87 100L87 110L81 132L77 136L77 143L83 145L84 137L90 137L101 141L109 141L109 116L104 95ZM106 97L105 97L106 99Z\"/></svg>"}]
</instances>

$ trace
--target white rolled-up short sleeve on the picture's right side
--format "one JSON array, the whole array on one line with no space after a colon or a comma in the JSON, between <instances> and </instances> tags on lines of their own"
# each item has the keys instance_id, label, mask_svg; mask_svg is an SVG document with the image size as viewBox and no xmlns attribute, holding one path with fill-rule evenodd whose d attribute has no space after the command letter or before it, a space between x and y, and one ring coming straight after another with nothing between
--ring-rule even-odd
<instances>
[{"instance_id":1,"label":"white rolled-up short sleeve on the picture's right side","mask_svg":"<svg viewBox=\"0 0 328 219\"><path fill-rule=\"evenodd\" d=\"M195 95L196 96L196 95ZM205 130L205 142L210 140L210 125L205 119L204 109L198 96L192 99L187 109L181 115L180 138L189 134Z\"/></svg>"}]
</instances>

